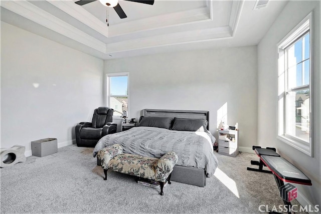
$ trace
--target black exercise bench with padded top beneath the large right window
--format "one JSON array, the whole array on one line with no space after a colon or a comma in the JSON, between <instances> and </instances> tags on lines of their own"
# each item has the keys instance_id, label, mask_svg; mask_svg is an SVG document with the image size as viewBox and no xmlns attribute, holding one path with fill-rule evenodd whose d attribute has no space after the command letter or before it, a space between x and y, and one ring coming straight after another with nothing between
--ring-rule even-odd
<instances>
[{"instance_id":1,"label":"black exercise bench with padded top beneath the large right window","mask_svg":"<svg viewBox=\"0 0 321 214\"><path fill-rule=\"evenodd\" d=\"M272 149L254 148L257 155L260 157L259 167L267 166L271 173L273 173L277 187L280 191L280 196L283 199L284 204L288 208L288 213L291 213L291 200L296 197L293 193L297 194L296 187L289 183L297 183L302 185L312 185L311 180L292 163L281 157ZM273 152L271 152L273 151ZM269 155L272 154L272 155ZM251 161L252 163L252 161ZM263 164L263 165L262 165ZM249 169L251 170L251 169ZM253 170L261 171L261 170ZM267 170L263 170L265 172ZM284 185L284 181L288 182ZM269 212L277 213L277 212Z\"/></svg>"}]
</instances>

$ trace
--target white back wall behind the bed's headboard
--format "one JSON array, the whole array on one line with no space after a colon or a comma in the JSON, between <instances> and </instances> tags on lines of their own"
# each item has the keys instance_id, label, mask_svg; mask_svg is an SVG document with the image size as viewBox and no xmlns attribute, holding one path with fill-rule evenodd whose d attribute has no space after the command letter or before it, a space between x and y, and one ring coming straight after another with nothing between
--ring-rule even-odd
<instances>
[{"instance_id":1,"label":"white back wall behind the bed's headboard","mask_svg":"<svg viewBox=\"0 0 321 214\"><path fill-rule=\"evenodd\" d=\"M228 124L239 123L240 145L256 144L257 47L225 48L107 60L106 73L129 72L129 117L140 110L217 111L227 103Z\"/></svg>"}]
</instances>

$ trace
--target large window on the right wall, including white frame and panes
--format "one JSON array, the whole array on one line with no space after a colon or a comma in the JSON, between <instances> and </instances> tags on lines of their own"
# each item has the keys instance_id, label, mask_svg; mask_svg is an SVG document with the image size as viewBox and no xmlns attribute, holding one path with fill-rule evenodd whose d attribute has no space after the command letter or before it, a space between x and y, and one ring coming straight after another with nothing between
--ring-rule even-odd
<instances>
[{"instance_id":1,"label":"large window on the right wall, including white frame and panes","mask_svg":"<svg viewBox=\"0 0 321 214\"><path fill-rule=\"evenodd\" d=\"M278 44L278 139L313 156L312 14Z\"/></svg>"}]
</instances>

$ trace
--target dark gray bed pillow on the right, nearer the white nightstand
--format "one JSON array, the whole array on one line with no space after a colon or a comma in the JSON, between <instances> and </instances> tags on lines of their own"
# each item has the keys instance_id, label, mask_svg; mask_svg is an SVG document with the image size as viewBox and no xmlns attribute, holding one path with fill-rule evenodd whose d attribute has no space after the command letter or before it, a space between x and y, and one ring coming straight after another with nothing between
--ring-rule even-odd
<instances>
[{"instance_id":1,"label":"dark gray bed pillow on the right, nearer the white nightstand","mask_svg":"<svg viewBox=\"0 0 321 214\"><path fill-rule=\"evenodd\" d=\"M207 120L205 119L183 119L175 118L172 130L176 131L207 131Z\"/></svg>"}]
</instances>

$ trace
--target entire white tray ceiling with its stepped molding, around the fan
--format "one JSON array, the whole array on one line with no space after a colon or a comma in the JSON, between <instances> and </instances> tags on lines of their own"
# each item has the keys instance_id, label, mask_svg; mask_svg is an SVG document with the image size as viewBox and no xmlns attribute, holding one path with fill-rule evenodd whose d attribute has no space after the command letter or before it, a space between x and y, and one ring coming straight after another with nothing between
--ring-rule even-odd
<instances>
[{"instance_id":1,"label":"entire white tray ceiling with its stepped molding, around the fan","mask_svg":"<svg viewBox=\"0 0 321 214\"><path fill-rule=\"evenodd\" d=\"M266 2L265 0L260 0ZM127 15L99 1L1 1L1 20L101 59L257 45L287 1L119 0ZM108 26L106 19L108 18Z\"/></svg>"}]
</instances>

